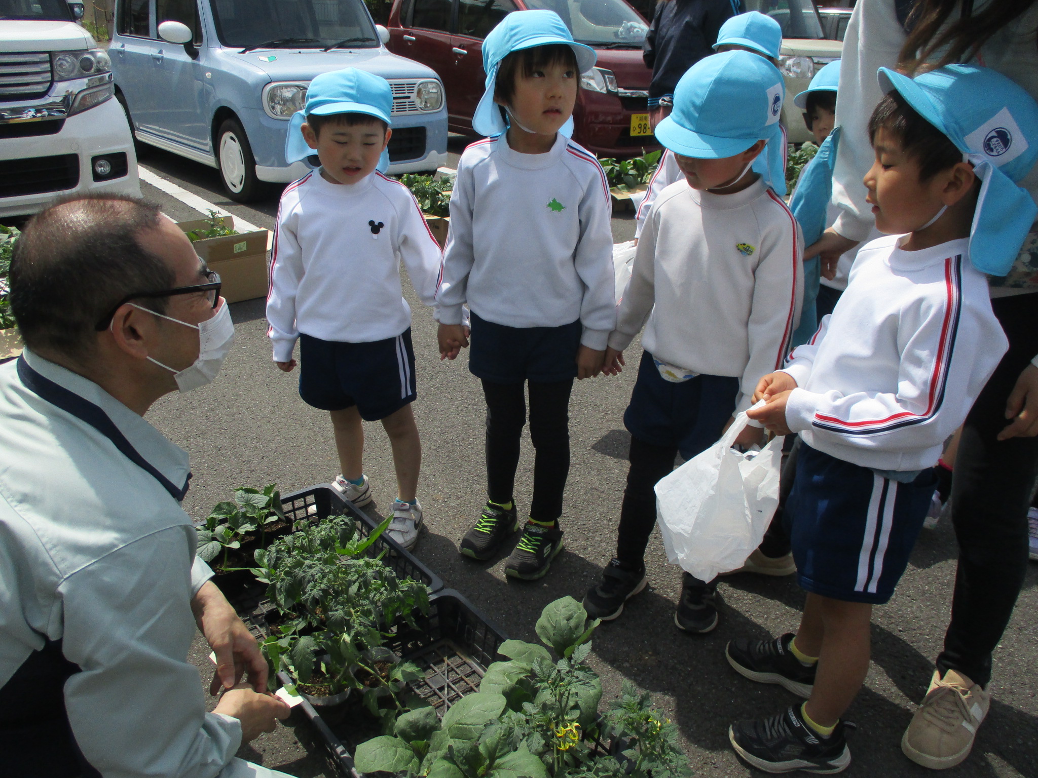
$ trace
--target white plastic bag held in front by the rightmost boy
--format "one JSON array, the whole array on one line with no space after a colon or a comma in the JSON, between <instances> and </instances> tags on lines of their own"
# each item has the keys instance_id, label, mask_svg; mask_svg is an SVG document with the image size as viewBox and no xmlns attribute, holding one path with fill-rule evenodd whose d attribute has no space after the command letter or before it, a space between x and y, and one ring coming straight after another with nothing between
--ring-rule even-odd
<instances>
[{"instance_id":1,"label":"white plastic bag held in front by the rightmost boy","mask_svg":"<svg viewBox=\"0 0 1038 778\"><path fill-rule=\"evenodd\" d=\"M667 559L701 581L741 567L778 507L783 438L740 453L732 444L747 421L740 413L717 443L656 484Z\"/></svg>"}]
</instances>

